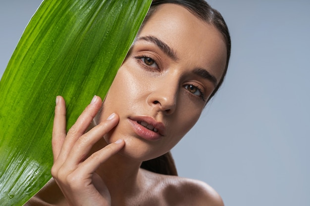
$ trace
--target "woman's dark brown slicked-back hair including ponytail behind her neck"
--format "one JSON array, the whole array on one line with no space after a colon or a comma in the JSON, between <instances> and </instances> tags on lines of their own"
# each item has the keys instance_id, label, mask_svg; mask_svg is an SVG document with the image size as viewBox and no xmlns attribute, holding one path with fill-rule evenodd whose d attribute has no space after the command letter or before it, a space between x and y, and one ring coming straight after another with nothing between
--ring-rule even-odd
<instances>
[{"instance_id":1,"label":"woman's dark brown slicked-back hair including ponytail behind her neck","mask_svg":"<svg viewBox=\"0 0 310 206\"><path fill-rule=\"evenodd\" d=\"M226 49L227 49L226 66L225 66L225 70L223 72L221 79L219 80L216 88L210 95L209 99L211 99L216 93L216 91L219 89L219 87L221 86L224 80L224 77L226 75L227 68L228 68L228 62L229 62L230 51L231 51L231 40L230 40L228 27L222 15L217 10L213 9L205 0L153 0L151 8L141 27L143 27L143 25L148 21L150 16L152 16L154 11L156 10L157 5L160 5L163 3L175 3L175 4L185 7L191 13L196 15L198 18L204 20L208 24L213 25L223 35L223 38L226 43ZM177 170L176 170L176 167L175 167L175 164L174 164L174 161L173 161L173 158L170 152L158 158L143 162L141 165L141 168L144 168L144 169L156 172L156 173L160 173L160 174L177 175Z\"/></svg>"}]
</instances>

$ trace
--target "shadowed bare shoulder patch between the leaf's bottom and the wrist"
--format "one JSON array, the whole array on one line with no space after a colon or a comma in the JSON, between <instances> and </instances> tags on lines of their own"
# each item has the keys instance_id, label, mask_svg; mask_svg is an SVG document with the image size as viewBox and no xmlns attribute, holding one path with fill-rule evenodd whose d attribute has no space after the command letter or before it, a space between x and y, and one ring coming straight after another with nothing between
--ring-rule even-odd
<instances>
[{"instance_id":1,"label":"shadowed bare shoulder patch between the leaf's bottom and the wrist","mask_svg":"<svg viewBox=\"0 0 310 206\"><path fill-rule=\"evenodd\" d=\"M67 203L58 185L51 179L24 206L67 206Z\"/></svg>"}]
</instances>

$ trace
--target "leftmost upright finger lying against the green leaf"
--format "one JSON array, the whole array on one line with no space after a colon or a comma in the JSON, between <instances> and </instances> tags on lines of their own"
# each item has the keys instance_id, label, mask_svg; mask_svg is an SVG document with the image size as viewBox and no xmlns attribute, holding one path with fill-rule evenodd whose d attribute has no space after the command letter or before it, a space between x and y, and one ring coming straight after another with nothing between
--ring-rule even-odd
<instances>
[{"instance_id":1,"label":"leftmost upright finger lying against the green leaf","mask_svg":"<svg viewBox=\"0 0 310 206\"><path fill-rule=\"evenodd\" d=\"M56 161L66 137L66 106L61 96L56 97L55 116L52 130L52 152Z\"/></svg>"}]
</instances>

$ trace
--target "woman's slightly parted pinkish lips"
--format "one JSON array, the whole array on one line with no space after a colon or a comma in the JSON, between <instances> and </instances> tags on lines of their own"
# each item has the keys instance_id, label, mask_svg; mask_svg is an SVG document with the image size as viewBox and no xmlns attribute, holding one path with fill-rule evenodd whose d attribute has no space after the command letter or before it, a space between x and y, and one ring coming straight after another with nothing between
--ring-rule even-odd
<instances>
[{"instance_id":1,"label":"woman's slightly parted pinkish lips","mask_svg":"<svg viewBox=\"0 0 310 206\"><path fill-rule=\"evenodd\" d=\"M155 121L149 116L130 117L134 131L142 138L148 140L157 140L165 135L164 124Z\"/></svg>"}]
</instances>

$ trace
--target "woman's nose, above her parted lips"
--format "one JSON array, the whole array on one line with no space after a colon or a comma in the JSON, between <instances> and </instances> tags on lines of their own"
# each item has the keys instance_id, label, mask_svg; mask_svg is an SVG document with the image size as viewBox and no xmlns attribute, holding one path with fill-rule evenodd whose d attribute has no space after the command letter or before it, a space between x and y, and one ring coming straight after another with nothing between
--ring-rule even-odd
<instances>
[{"instance_id":1,"label":"woman's nose, above her parted lips","mask_svg":"<svg viewBox=\"0 0 310 206\"><path fill-rule=\"evenodd\" d=\"M148 104L162 111L165 115L170 115L175 111L177 103L178 86L172 86L169 81L158 82L153 85L154 89L148 96Z\"/></svg>"}]
</instances>

